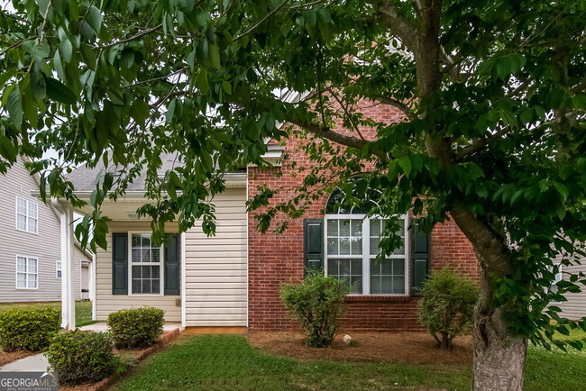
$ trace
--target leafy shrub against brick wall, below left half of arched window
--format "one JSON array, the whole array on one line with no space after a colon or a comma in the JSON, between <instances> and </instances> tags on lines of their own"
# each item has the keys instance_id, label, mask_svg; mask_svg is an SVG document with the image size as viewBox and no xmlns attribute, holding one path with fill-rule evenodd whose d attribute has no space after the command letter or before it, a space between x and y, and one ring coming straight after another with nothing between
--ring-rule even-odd
<instances>
[{"instance_id":1,"label":"leafy shrub against brick wall, below left half of arched window","mask_svg":"<svg viewBox=\"0 0 586 391\"><path fill-rule=\"evenodd\" d=\"M343 299L349 291L347 284L314 272L301 284L283 284L280 298L289 314L301 323L307 346L326 348L338 332L337 317L345 312Z\"/></svg>"}]
</instances>

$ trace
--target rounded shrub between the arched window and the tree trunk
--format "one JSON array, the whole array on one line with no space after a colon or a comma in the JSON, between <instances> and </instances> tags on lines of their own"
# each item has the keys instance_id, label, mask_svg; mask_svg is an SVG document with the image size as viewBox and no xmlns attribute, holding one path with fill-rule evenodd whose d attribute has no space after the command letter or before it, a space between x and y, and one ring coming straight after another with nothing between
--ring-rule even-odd
<instances>
[{"instance_id":1,"label":"rounded shrub between the arched window and the tree trunk","mask_svg":"<svg viewBox=\"0 0 586 391\"><path fill-rule=\"evenodd\" d=\"M453 338L472 323L478 286L449 269L432 272L421 288L419 321L443 350L453 349Z\"/></svg>"}]
</instances>

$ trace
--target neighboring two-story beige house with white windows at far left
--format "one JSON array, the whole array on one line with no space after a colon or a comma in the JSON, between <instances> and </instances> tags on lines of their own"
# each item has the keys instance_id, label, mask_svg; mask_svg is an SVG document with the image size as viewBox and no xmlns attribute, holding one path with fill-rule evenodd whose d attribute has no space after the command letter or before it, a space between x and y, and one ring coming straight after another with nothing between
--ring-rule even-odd
<instances>
[{"instance_id":1,"label":"neighboring two-story beige house with white windows at far left","mask_svg":"<svg viewBox=\"0 0 586 391\"><path fill-rule=\"evenodd\" d=\"M37 178L18 159L0 175L0 303L60 301L60 215L33 196ZM91 256L76 246L75 298L88 286ZM84 266L86 276L84 280Z\"/></svg>"}]
</instances>

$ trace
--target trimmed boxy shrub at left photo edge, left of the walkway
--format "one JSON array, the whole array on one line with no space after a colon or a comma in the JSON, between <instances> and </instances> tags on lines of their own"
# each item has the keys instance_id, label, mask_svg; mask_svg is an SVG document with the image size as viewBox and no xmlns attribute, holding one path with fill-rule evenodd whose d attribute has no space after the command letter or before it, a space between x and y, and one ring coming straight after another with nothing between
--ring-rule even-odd
<instances>
[{"instance_id":1,"label":"trimmed boxy shrub at left photo edge, left of the walkway","mask_svg":"<svg viewBox=\"0 0 586 391\"><path fill-rule=\"evenodd\" d=\"M0 346L5 351L43 350L60 331L56 308L13 308L0 313Z\"/></svg>"}]
</instances>

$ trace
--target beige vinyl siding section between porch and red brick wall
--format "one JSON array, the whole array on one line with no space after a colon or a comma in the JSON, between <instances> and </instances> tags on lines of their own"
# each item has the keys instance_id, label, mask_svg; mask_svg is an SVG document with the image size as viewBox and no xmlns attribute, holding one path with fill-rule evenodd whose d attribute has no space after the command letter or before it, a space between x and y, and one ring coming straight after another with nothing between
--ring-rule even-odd
<instances>
[{"instance_id":1,"label":"beige vinyl siding section between porch and red brick wall","mask_svg":"<svg viewBox=\"0 0 586 391\"><path fill-rule=\"evenodd\" d=\"M185 234L186 326L246 326L246 189L229 187L213 201L216 233Z\"/></svg>"}]
</instances>

